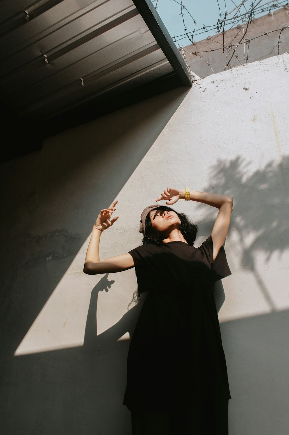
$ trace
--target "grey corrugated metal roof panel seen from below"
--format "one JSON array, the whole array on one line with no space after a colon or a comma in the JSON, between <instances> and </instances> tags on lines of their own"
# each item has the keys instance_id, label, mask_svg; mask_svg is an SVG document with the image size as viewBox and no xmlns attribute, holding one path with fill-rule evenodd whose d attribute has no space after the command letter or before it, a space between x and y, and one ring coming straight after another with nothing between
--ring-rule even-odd
<instances>
[{"instance_id":1,"label":"grey corrugated metal roof panel seen from below","mask_svg":"<svg viewBox=\"0 0 289 435\"><path fill-rule=\"evenodd\" d=\"M21 117L173 71L132 0L4 1L1 15L2 100Z\"/></svg>"}]
</instances>

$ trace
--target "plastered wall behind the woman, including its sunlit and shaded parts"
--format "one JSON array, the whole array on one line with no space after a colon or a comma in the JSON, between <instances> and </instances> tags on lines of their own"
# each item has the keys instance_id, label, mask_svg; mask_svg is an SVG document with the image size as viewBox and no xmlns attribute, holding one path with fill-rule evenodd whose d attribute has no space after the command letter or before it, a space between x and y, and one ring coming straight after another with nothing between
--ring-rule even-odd
<instances>
[{"instance_id":1,"label":"plastered wall behind the woman, including its sunlit and shaded parts","mask_svg":"<svg viewBox=\"0 0 289 435\"><path fill-rule=\"evenodd\" d=\"M130 433L126 355L134 269L82 273L99 210L120 218L101 258L140 243L139 214L168 185L231 194L232 275L216 300L230 435L288 428L288 74L280 55L199 80L52 137L3 165L3 433ZM179 201L199 224L216 211ZM286 217L287 213L287 217ZM286 286L287 283L287 286ZM128 310L129 306L129 310ZM142 374L136 368L136 382Z\"/></svg>"}]
</instances>

